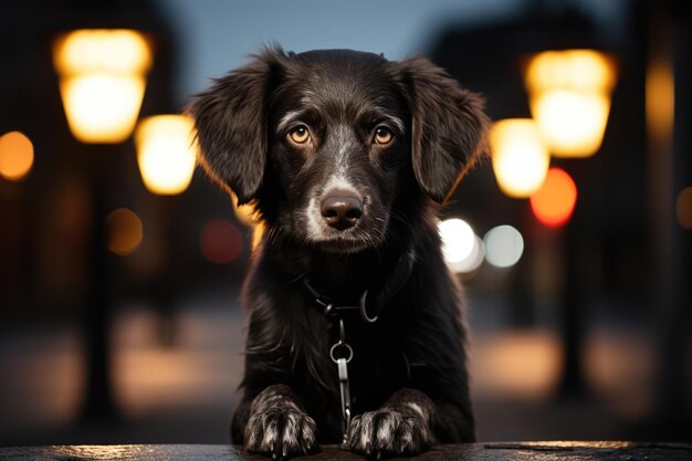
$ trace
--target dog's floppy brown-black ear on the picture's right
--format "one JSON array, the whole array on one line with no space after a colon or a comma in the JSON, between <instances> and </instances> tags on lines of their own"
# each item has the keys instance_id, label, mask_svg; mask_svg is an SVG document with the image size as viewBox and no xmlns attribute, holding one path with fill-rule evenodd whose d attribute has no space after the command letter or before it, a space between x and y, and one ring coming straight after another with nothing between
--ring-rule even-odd
<instances>
[{"instance_id":1,"label":"dog's floppy brown-black ear on the picture's right","mask_svg":"<svg viewBox=\"0 0 692 461\"><path fill-rule=\"evenodd\" d=\"M411 151L421 190L438 203L487 153L490 119L482 98L424 57L395 63L411 112Z\"/></svg>"}]
</instances>

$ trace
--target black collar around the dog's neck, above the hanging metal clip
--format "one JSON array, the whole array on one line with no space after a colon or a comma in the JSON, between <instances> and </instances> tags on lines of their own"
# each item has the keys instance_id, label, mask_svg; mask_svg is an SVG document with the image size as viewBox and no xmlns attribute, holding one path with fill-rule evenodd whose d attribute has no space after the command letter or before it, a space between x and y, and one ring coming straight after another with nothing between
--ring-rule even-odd
<instances>
[{"instance_id":1,"label":"black collar around the dog's neck, above the hanging metal clip","mask_svg":"<svg viewBox=\"0 0 692 461\"><path fill-rule=\"evenodd\" d=\"M388 277L385 279L382 285L377 290L369 287L358 297L358 305L345 304L336 301L334 297L325 295L317 291L311 281L303 279L303 284L312 297L315 298L314 306L321 313L332 318L340 318L347 312L360 313L360 317L365 323L375 323L379 318L382 310L391 298L401 291L406 282L408 282L413 271L416 262L416 250L410 249L395 264L394 270ZM355 297L355 296L354 296Z\"/></svg>"}]
</instances>

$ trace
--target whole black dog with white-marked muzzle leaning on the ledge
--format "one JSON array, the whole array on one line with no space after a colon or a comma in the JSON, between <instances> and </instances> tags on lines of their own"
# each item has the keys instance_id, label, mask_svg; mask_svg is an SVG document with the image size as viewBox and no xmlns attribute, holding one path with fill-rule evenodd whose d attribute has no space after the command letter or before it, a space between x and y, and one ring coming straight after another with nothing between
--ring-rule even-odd
<instances>
[{"instance_id":1,"label":"whole black dog with white-marked muzzle leaning on the ledge","mask_svg":"<svg viewBox=\"0 0 692 461\"><path fill-rule=\"evenodd\" d=\"M474 440L436 211L484 153L480 98L422 57L274 48L189 112L202 165L265 227L233 441L380 457Z\"/></svg>"}]
</instances>

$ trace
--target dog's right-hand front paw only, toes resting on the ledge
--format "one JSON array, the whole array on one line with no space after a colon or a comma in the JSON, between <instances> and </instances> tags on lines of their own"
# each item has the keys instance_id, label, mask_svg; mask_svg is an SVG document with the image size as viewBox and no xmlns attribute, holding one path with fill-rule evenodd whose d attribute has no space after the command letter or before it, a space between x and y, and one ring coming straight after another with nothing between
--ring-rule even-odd
<instances>
[{"instance_id":1,"label":"dog's right-hand front paw only, toes resting on the ledge","mask_svg":"<svg viewBox=\"0 0 692 461\"><path fill-rule=\"evenodd\" d=\"M348 448L377 459L413 455L430 446L430 429L421 418L381 409L353 419Z\"/></svg>"}]
</instances>

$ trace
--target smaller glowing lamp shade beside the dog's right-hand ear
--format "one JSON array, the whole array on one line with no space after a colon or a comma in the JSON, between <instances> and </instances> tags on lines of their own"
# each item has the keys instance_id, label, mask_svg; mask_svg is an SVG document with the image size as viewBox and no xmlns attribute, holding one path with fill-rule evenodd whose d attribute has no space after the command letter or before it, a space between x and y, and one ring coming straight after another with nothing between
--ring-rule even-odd
<instances>
[{"instance_id":1,"label":"smaller glowing lamp shade beside the dog's right-hand ear","mask_svg":"<svg viewBox=\"0 0 692 461\"><path fill-rule=\"evenodd\" d=\"M551 154L531 118L496 122L490 135L493 171L500 189L514 198L534 193L545 179Z\"/></svg>"}]
</instances>

